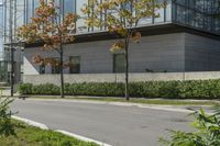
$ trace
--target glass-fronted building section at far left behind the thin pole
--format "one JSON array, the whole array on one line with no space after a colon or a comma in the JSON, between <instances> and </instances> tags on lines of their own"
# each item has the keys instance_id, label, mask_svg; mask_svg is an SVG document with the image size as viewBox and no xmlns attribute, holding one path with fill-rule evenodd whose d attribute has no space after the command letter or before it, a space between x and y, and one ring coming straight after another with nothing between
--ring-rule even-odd
<instances>
[{"instance_id":1,"label":"glass-fronted building section at far left behind the thin pole","mask_svg":"<svg viewBox=\"0 0 220 146\"><path fill-rule=\"evenodd\" d=\"M9 40L10 40L10 18L12 18L12 38L13 43L16 42L15 30L18 26L24 24L23 14L24 14L24 4L19 0L0 0L0 82L10 82L11 75L11 52L9 49ZM10 14L10 3L12 4L12 13ZM14 48L14 81L19 82L22 78L23 71L21 70L23 65L23 52L13 46Z\"/></svg>"}]
</instances>

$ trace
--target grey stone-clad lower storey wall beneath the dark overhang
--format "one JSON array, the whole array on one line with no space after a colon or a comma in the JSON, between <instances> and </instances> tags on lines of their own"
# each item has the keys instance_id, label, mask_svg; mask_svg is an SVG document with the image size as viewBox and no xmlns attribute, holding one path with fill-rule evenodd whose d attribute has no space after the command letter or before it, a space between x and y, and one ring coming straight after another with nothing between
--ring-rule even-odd
<instances>
[{"instance_id":1,"label":"grey stone-clad lower storey wall beneath the dark overhang","mask_svg":"<svg viewBox=\"0 0 220 146\"><path fill-rule=\"evenodd\" d=\"M99 41L69 44L64 47L65 60L69 56L80 56L81 74L112 74L113 55L109 50L114 41ZM32 63L32 56L58 57L56 52L43 52L42 48L24 50L24 75L38 75L38 65ZM188 33L174 33L142 37L139 44L129 49L130 72L155 71L216 71L220 70L220 42ZM51 67L46 72L51 74ZM68 69L65 70L68 74Z\"/></svg>"}]
</instances>

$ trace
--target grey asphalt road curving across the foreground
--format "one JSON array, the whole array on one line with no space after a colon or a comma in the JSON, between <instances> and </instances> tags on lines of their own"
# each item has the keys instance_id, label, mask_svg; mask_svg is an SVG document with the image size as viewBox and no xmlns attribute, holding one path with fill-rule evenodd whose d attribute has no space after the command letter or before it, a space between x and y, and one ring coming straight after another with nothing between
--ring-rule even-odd
<instances>
[{"instance_id":1,"label":"grey asphalt road curving across the foreground","mask_svg":"<svg viewBox=\"0 0 220 146\"><path fill-rule=\"evenodd\" d=\"M190 130L182 112L42 100L16 100L11 108L16 116L113 146L157 146L167 130Z\"/></svg>"}]
</instances>

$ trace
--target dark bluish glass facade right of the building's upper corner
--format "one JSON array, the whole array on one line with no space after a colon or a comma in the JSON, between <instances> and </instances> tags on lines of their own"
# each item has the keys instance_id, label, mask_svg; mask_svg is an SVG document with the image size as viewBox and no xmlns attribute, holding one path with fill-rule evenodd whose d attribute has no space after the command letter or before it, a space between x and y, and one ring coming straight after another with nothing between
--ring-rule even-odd
<instances>
[{"instance_id":1,"label":"dark bluish glass facade right of the building's upper corner","mask_svg":"<svg viewBox=\"0 0 220 146\"><path fill-rule=\"evenodd\" d=\"M220 34L219 2L219 0L175 0L173 1L173 22Z\"/></svg>"}]
</instances>

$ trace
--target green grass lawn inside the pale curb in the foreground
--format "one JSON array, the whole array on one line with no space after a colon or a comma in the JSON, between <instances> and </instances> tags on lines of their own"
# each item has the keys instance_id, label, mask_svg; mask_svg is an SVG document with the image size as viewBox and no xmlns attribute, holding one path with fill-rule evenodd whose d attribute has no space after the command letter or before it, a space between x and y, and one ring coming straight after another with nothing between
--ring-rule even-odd
<instances>
[{"instance_id":1,"label":"green grass lawn inside the pale curb in the foreground","mask_svg":"<svg viewBox=\"0 0 220 146\"><path fill-rule=\"evenodd\" d=\"M98 146L53 131L44 131L13 121L15 136L0 136L0 146Z\"/></svg>"}]
</instances>

